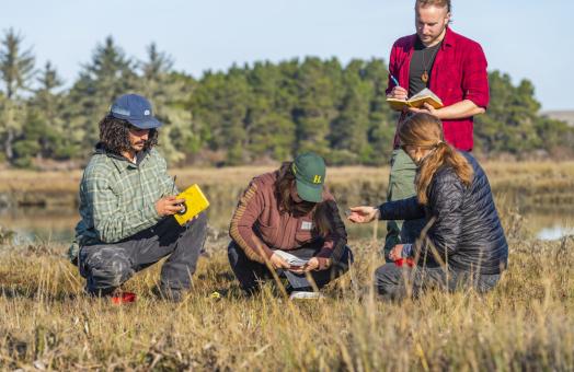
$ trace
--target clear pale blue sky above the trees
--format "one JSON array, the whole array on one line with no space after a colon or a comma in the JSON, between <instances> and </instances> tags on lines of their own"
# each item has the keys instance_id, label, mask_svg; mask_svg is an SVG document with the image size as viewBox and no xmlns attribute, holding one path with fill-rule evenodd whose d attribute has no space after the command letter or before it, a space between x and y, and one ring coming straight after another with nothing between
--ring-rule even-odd
<instances>
[{"instance_id":1,"label":"clear pale blue sky above the trees","mask_svg":"<svg viewBox=\"0 0 574 372\"><path fill-rule=\"evenodd\" d=\"M38 66L70 84L97 43L113 35L128 56L156 42L175 68L199 77L233 62L292 57L384 58L414 32L414 0L18 0L0 28L25 36ZM574 1L452 0L454 30L480 42L489 68L530 79L543 109L574 109Z\"/></svg>"}]
</instances>

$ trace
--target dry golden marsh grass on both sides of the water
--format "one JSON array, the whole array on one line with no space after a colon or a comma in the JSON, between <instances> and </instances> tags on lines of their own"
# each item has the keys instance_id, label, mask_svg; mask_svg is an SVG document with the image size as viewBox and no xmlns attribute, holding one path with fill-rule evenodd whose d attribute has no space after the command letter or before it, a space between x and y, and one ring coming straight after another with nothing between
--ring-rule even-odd
<instances>
[{"instance_id":1,"label":"dry golden marsh grass on both sides of the water","mask_svg":"<svg viewBox=\"0 0 574 372\"><path fill-rule=\"evenodd\" d=\"M509 269L491 293L428 292L382 302L372 292L372 272L382 264L380 242L351 236L355 264L325 290L325 299L289 301L273 283L245 298L227 263L226 236L211 236L182 303L153 294L154 266L126 283L125 290L138 295L135 303L114 305L83 295L77 268L64 258L66 246L3 243L0 370L572 371L574 240L525 237L512 200L517 191L565 204L574 189L574 163L485 167L497 196L509 200L498 206L510 244ZM181 185L197 182L231 200L266 170L171 173ZM10 187L74 193L79 176L9 171L0 177L0 193ZM371 191L381 195L387 176L386 168L336 168L329 182L356 201L374 196L365 191L369 185L354 179L372 179ZM506 193L513 196L505 198ZM222 297L211 297L214 291Z\"/></svg>"}]
</instances>

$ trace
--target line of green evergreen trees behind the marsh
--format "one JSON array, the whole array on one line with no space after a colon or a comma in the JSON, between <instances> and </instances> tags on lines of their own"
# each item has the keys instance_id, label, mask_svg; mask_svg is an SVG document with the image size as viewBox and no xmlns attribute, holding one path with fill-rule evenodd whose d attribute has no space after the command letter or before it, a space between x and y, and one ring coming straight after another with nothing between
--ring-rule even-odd
<instances>
[{"instance_id":1,"label":"line of green evergreen trees behind the marsh","mask_svg":"<svg viewBox=\"0 0 574 372\"><path fill-rule=\"evenodd\" d=\"M114 97L135 92L151 100L163 121L159 149L172 163L252 164L313 150L332 165L386 164L397 123L386 103L387 74L382 59L343 66L308 57L232 66L196 80L175 71L154 44L136 60L110 36L64 89L56 68L38 69L23 36L10 28L0 38L0 162L85 161ZM491 106L475 120L475 151L574 155L574 129L539 115L531 82L514 85L494 71L490 84Z\"/></svg>"}]
</instances>

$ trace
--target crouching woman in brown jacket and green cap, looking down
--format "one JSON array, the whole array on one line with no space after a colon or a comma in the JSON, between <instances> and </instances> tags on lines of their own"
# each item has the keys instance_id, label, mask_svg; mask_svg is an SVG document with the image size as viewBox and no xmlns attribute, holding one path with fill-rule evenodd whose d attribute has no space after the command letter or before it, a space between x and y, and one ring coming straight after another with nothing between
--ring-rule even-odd
<instances>
[{"instance_id":1,"label":"crouching woman in brown jacket and green cap, looking down","mask_svg":"<svg viewBox=\"0 0 574 372\"><path fill-rule=\"evenodd\" d=\"M233 213L228 247L229 263L245 292L256 292L273 269L287 278L288 292L311 297L305 292L348 270L353 254L345 224L323 188L324 179L323 159L308 152L251 181Z\"/></svg>"}]
</instances>

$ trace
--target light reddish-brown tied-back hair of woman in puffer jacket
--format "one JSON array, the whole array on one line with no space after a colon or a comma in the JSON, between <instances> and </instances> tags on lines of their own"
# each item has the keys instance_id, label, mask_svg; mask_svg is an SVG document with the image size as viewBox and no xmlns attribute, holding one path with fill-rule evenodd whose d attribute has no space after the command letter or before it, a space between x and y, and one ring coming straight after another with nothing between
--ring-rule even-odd
<instances>
[{"instance_id":1,"label":"light reddish-brown tied-back hair of woman in puffer jacket","mask_svg":"<svg viewBox=\"0 0 574 372\"><path fill-rule=\"evenodd\" d=\"M467 159L445 142L443 123L437 117L420 113L411 116L399 128L399 138L403 146L431 148L432 152L423 160L416 177L418 202L428 202L427 189L436 171L450 166L468 187L472 183L473 171Z\"/></svg>"}]
</instances>

